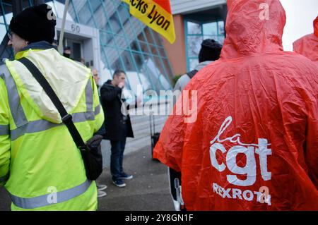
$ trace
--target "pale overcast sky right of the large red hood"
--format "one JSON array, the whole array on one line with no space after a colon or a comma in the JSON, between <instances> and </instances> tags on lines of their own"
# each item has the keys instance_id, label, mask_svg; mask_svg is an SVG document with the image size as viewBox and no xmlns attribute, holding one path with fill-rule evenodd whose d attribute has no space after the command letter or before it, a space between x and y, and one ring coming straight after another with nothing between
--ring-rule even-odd
<instances>
[{"instance_id":1,"label":"pale overcast sky right of the large red hood","mask_svg":"<svg viewBox=\"0 0 318 225\"><path fill-rule=\"evenodd\" d=\"M281 0L286 11L283 34L285 51L293 51L293 42L314 32L313 21L318 16L318 0Z\"/></svg>"}]
</instances>

